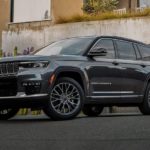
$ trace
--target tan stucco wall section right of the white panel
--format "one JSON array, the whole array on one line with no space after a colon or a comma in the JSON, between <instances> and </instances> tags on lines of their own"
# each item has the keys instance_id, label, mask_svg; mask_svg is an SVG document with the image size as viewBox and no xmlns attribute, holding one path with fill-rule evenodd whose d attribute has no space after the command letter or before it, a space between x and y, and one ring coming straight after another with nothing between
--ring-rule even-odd
<instances>
[{"instance_id":1,"label":"tan stucco wall section right of the white panel","mask_svg":"<svg viewBox=\"0 0 150 150\"><path fill-rule=\"evenodd\" d=\"M52 0L53 19L81 15L83 0Z\"/></svg>"}]
</instances>

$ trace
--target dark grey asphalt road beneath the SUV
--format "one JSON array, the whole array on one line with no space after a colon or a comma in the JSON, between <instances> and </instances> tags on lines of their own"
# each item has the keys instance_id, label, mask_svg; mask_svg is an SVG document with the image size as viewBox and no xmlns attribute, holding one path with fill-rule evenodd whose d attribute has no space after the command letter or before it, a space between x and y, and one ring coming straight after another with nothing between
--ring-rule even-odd
<instances>
[{"instance_id":1,"label":"dark grey asphalt road beneath the SUV","mask_svg":"<svg viewBox=\"0 0 150 150\"><path fill-rule=\"evenodd\" d=\"M0 150L149 150L150 117L140 114L79 116L54 122L17 117L0 122Z\"/></svg>"}]
</instances>

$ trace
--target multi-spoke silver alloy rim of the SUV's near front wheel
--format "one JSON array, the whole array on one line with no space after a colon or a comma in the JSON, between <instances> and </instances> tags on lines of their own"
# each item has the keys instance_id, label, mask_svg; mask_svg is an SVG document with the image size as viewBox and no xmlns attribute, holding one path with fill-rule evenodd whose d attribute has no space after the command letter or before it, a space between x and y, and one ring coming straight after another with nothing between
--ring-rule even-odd
<instances>
[{"instance_id":1,"label":"multi-spoke silver alloy rim of the SUV's near front wheel","mask_svg":"<svg viewBox=\"0 0 150 150\"><path fill-rule=\"evenodd\" d=\"M74 113L80 105L80 99L77 87L67 82L55 85L50 95L53 109L61 115Z\"/></svg>"}]
</instances>

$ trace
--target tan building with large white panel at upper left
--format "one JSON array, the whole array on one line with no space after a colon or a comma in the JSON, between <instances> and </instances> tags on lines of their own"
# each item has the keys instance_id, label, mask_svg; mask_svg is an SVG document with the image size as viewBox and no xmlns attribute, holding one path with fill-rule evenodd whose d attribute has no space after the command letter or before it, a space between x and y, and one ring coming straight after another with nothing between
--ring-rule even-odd
<instances>
[{"instance_id":1,"label":"tan building with large white panel at upper left","mask_svg":"<svg viewBox=\"0 0 150 150\"><path fill-rule=\"evenodd\" d=\"M0 49L8 23L35 23L81 15L83 0L0 0Z\"/></svg>"}]
</instances>

